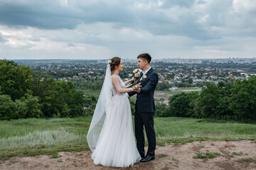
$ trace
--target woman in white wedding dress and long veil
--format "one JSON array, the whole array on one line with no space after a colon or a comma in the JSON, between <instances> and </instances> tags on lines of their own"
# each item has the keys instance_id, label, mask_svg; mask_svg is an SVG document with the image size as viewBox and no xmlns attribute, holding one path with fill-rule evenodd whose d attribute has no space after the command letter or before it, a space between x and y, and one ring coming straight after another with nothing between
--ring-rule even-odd
<instances>
[{"instance_id":1,"label":"woman in white wedding dress and long veil","mask_svg":"<svg viewBox=\"0 0 256 170\"><path fill-rule=\"evenodd\" d=\"M134 78L122 81L118 74L123 67L119 57L113 57L108 62L105 81L87 134L93 162L103 166L128 167L141 159L134 140L132 113L126 94L134 91L134 87L126 88Z\"/></svg>"}]
</instances>

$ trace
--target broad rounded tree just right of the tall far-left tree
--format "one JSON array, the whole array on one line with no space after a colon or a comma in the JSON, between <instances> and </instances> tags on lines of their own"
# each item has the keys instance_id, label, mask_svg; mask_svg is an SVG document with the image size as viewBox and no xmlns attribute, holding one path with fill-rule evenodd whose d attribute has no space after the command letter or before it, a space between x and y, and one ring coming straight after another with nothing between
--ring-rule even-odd
<instances>
[{"instance_id":1,"label":"broad rounded tree just right of the tall far-left tree","mask_svg":"<svg viewBox=\"0 0 256 170\"><path fill-rule=\"evenodd\" d=\"M71 82L54 81L45 77L36 80L33 94L39 96L44 117L76 117L84 115L85 100L82 91L77 91Z\"/></svg>"}]
</instances>

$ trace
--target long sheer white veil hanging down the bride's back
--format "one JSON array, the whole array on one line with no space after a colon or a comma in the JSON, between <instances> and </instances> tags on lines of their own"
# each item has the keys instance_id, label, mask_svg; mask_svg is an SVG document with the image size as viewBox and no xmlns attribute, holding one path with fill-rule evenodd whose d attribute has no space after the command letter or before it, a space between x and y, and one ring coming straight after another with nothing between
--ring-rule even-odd
<instances>
[{"instance_id":1,"label":"long sheer white veil hanging down the bride's back","mask_svg":"<svg viewBox=\"0 0 256 170\"><path fill-rule=\"evenodd\" d=\"M107 108L110 106L112 98L112 81L110 64L107 64L105 80L100 91L100 96L97 101L95 112L92 116L92 122L87 133L87 143L93 151L96 148L97 140L99 139L102 126L105 121Z\"/></svg>"}]
</instances>

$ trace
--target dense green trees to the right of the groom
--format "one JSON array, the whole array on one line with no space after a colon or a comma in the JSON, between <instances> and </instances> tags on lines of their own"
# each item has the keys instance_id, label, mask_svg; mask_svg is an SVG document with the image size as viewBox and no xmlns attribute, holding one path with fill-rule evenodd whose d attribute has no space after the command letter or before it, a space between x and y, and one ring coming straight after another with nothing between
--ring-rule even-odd
<instances>
[{"instance_id":1,"label":"dense green trees to the right of the groom","mask_svg":"<svg viewBox=\"0 0 256 170\"><path fill-rule=\"evenodd\" d=\"M191 117L231 120L256 120L256 77L234 84L207 83L198 92L181 93L169 98L169 106L156 104L159 117Z\"/></svg>"}]
</instances>

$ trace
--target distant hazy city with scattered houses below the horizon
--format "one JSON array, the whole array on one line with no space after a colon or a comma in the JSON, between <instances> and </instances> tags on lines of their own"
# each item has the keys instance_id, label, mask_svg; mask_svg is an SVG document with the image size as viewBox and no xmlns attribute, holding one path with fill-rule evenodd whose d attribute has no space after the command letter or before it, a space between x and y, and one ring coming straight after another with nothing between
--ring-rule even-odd
<instances>
[{"instance_id":1,"label":"distant hazy city with scattered houses below the horizon","mask_svg":"<svg viewBox=\"0 0 256 170\"><path fill-rule=\"evenodd\" d=\"M34 71L49 74L56 81L68 79L102 79L107 60L14 60ZM132 77L137 60L124 59L121 77ZM152 66L159 73L159 82L189 83L229 81L248 79L256 75L256 58L228 59L162 59L152 60Z\"/></svg>"}]
</instances>

